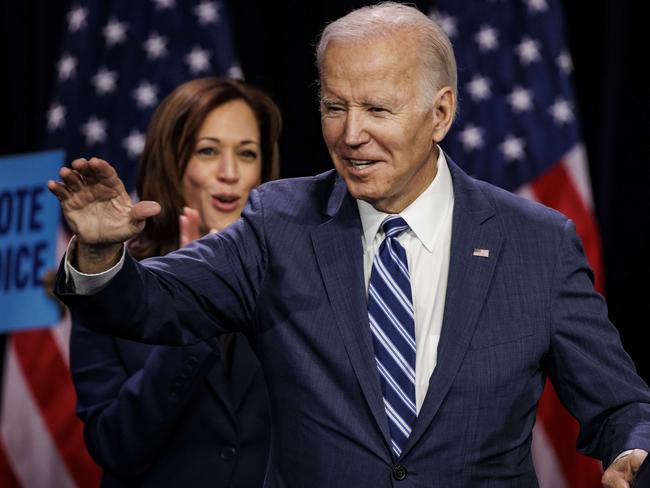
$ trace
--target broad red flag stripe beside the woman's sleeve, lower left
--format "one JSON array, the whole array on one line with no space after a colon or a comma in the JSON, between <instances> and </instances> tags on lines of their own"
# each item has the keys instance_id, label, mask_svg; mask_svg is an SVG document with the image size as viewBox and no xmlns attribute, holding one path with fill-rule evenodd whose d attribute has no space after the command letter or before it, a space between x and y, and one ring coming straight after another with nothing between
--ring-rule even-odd
<instances>
[{"instance_id":1,"label":"broad red flag stripe beside the woman's sleeve, lower left","mask_svg":"<svg viewBox=\"0 0 650 488\"><path fill-rule=\"evenodd\" d=\"M70 372L52 332L16 332L11 340L27 384L72 478L81 487L98 486L100 470L86 450L83 424L74 413L76 393Z\"/></svg>"}]
</instances>

